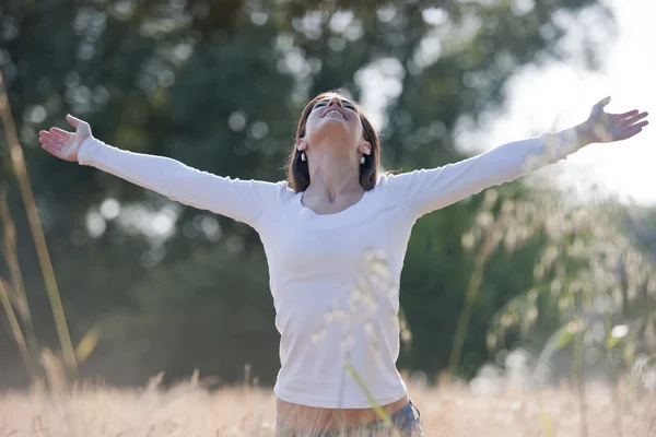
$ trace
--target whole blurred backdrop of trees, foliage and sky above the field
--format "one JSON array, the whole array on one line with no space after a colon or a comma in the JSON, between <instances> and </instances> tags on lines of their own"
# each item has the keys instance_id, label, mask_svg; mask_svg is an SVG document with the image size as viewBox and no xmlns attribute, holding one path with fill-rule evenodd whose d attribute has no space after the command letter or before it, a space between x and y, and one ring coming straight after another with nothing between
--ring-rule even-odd
<instances>
[{"instance_id":1,"label":"whole blurred backdrop of trees, foliage and sky above the field","mask_svg":"<svg viewBox=\"0 0 656 437\"><path fill-rule=\"evenodd\" d=\"M4 0L0 387L58 368L270 386L279 369L257 234L45 153L38 131L66 114L120 149L276 181L305 103L341 88L385 169L434 167L572 127L606 95L654 110L653 16L648 0ZM648 368L655 140L586 147L421 218L399 367L429 382Z\"/></svg>"}]
</instances>

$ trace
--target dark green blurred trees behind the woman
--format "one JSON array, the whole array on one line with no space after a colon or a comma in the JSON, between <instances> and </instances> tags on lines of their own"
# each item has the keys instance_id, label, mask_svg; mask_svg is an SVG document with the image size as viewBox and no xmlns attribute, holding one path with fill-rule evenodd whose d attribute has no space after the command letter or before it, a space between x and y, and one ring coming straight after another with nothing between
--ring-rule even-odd
<instances>
[{"instance_id":1,"label":"dark green blurred trees behind the woman","mask_svg":"<svg viewBox=\"0 0 656 437\"><path fill-rule=\"evenodd\" d=\"M180 377L200 367L234 380L254 362L254 373L272 382L278 334L267 264L245 225L59 162L40 151L39 129L63 127L72 113L121 149L279 180L305 102L343 87L376 120L386 168L438 166L464 157L454 147L457 121L501 105L518 67L564 56L563 17L590 10L610 24L593 0L5 1L0 68L71 330L79 338L98 323L105 335L83 375L142 383L161 369ZM4 139L0 145L36 328L47 343L43 280ZM478 202L431 214L413 232L401 293L414 333L405 367L433 374L446 365L471 269L460 235ZM491 315L530 283L526 257L513 256L512 277L502 268L508 259L490 269L467 343L469 374L485 358ZM0 347L13 351L8 336Z\"/></svg>"}]
</instances>

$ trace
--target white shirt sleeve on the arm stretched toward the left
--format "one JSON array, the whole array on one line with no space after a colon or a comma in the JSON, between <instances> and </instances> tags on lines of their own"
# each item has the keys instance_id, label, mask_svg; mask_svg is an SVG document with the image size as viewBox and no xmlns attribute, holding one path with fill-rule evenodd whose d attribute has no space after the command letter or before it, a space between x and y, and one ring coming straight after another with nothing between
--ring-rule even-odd
<instances>
[{"instance_id":1,"label":"white shirt sleeve on the arm stretched toward the left","mask_svg":"<svg viewBox=\"0 0 656 437\"><path fill-rule=\"evenodd\" d=\"M239 180L212 175L178 161L128 152L91 137L78 153L78 162L107 172L171 200L211 211L255 227L277 199L281 184Z\"/></svg>"}]
</instances>

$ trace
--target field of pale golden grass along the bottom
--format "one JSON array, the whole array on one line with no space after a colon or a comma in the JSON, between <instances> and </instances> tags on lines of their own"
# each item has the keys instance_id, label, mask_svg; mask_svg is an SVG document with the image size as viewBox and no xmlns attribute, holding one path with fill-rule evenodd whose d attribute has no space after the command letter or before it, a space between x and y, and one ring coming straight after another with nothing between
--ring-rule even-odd
<instances>
[{"instance_id":1,"label":"field of pale golden grass along the bottom","mask_svg":"<svg viewBox=\"0 0 656 437\"><path fill-rule=\"evenodd\" d=\"M430 436L579 436L579 401L567 389L475 394L466 386L410 385ZM656 436L656 393L624 401L621 413L604 386L587 388L587 435ZM618 428L621 416L621 432ZM117 389L79 387L68 394L44 390L0 393L0 436L272 436L274 398L270 389L208 391L192 382ZM550 425L549 425L550 424ZM548 428L551 427L551 433Z\"/></svg>"}]
</instances>

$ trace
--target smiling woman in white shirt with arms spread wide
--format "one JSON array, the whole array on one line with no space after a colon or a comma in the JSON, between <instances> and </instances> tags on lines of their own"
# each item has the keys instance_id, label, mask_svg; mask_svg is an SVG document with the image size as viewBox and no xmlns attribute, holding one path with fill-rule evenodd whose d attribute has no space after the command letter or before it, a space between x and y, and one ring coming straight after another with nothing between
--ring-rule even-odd
<instances>
[{"instance_id":1,"label":"smiling woman in white shirt with arms spread wide","mask_svg":"<svg viewBox=\"0 0 656 437\"><path fill-rule=\"evenodd\" d=\"M419 411L396 369L399 279L414 222L587 144L633 137L647 125L646 113L606 114L609 101L572 129L399 175L379 175L376 132L362 109L338 93L318 95L305 107L289 180L277 184L219 177L121 151L71 116L74 132L51 128L39 132L39 142L59 158L258 232L281 333L278 436L380 435L385 423L367 395L403 435L421 436Z\"/></svg>"}]
</instances>

